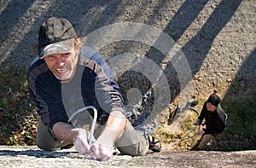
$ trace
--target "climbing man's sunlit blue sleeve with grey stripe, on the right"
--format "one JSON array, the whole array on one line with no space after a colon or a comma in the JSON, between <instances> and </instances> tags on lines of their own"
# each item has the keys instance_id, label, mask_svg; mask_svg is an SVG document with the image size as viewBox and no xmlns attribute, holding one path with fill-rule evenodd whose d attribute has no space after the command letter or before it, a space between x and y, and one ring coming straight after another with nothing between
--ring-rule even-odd
<instances>
[{"instance_id":1,"label":"climbing man's sunlit blue sleeve with grey stripe, on the right","mask_svg":"<svg viewBox=\"0 0 256 168\"><path fill-rule=\"evenodd\" d=\"M83 81L90 81L90 84L86 85L89 86L91 95L96 96L90 96L90 102L96 100L98 107L106 113L113 111L125 113L123 98L119 92L119 85L114 81L112 68L109 67L102 55L92 51L93 49L88 47L84 48L82 50L83 59L80 60L82 61L80 64L84 65L86 62L86 68L90 69L83 74Z\"/></svg>"}]
</instances>

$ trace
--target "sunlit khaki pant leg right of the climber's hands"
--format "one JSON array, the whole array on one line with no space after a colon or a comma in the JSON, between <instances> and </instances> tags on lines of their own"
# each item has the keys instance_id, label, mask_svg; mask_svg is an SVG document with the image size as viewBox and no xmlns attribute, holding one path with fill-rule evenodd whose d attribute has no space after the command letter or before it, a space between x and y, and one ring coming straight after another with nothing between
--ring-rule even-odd
<instances>
[{"instance_id":1,"label":"sunlit khaki pant leg right of the climber's hands","mask_svg":"<svg viewBox=\"0 0 256 168\"><path fill-rule=\"evenodd\" d=\"M140 156L148 152L148 136L142 132L134 130L127 120L122 136L114 143L122 154Z\"/></svg>"}]
</instances>

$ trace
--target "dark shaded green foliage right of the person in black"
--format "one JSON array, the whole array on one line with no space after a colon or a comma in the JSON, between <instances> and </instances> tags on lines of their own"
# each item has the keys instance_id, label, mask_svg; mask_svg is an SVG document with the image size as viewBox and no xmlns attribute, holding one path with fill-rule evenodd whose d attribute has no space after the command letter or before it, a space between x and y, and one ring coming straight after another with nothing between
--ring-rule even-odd
<instances>
[{"instance_id":1,"label":"dark shaded green foliage right of the person in black","mask_svg":"<svg viewBox=\"0 0 256 168\"><path fill-rule=\"evenodd\" d=\"M255 149L256 146L256 91L244 99L225 99L224 110L229 115L224 136L234 149Z\"/></svg>"}]
</instances>

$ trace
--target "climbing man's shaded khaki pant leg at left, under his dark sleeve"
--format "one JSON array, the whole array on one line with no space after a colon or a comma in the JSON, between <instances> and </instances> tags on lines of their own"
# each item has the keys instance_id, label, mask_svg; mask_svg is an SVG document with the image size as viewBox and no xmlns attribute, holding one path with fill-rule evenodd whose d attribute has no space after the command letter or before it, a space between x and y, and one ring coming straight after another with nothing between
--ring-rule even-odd
<instances>
[{"instance_id":1,"label":"climbing man's shaded khaki pant leg at left, under his dark sleeve","mask_svg":"<svg viewBox=\"0 0 256 168\"><path fill-rule=\"evenodd\" d=\"M48 125L44 125L42 120L39 120L38 132L37 132L37 146L44 150L53 150L55 148L63 148L67 145L73 144L73 142L55 140L48 129Z\"/></svg>"}]
</instances>

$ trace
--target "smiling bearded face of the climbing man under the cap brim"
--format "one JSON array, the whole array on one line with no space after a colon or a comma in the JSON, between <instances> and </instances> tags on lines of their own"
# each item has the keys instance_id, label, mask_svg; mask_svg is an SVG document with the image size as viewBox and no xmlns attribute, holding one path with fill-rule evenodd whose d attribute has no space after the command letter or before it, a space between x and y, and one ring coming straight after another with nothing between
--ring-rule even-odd
<instances>
[{"instance_id":1,"label":"smiling bearded face of the climbing man under the cap brim","mask_svg":"<svg viewBox=\"0 0 256 168\"><path fill-rule=\"evenodd\" d=\"M76 71L79 55L72 49L69 53L47 55L44 57L49 70L62 83L69 82Z\"/></svg>"}]
</instances>

